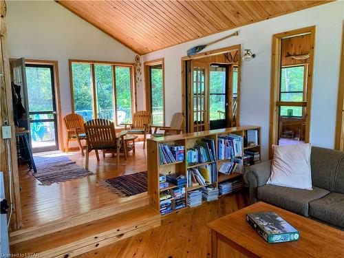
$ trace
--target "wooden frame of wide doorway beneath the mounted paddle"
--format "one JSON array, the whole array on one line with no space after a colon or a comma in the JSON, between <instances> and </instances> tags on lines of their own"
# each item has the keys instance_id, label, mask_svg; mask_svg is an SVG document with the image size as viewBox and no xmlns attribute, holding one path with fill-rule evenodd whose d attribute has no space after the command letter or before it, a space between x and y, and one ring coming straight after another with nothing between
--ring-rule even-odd
<instances>
[{"instance_id":1,"label":"wooden frame of wide doorway beneath the mounted paddle","mask_svg":"<svg viewBox=\"0 0 344 258\"><path fill-rule=\"evenodd\" d=\"M185 61L192 61L192 60L196 60L199 58L204 58L206 56L216 56L218 54L224 54L226 52L230 52L233 50L237 50L238 51L238 61L237 61L237 67L238 67L238 76L237 76L237 127L239 127L239 122L240 122L240 93L241 93L241 44L237 44L237 45L232 45L230 47L222 47L219 48L217 50L210 50L208 52L204 52L204 53L200 53L200 54L194 54L192 56L184 56L181 58L181 66L182 67L182 114L184 116L184 119L186 121L186 114L187 114L187 110L186 110L186 65L185 65ZM228 113L229 114L229 113ZM186 132L186 127L184 127L184 133Z\"/></svg>"}]
</instances>

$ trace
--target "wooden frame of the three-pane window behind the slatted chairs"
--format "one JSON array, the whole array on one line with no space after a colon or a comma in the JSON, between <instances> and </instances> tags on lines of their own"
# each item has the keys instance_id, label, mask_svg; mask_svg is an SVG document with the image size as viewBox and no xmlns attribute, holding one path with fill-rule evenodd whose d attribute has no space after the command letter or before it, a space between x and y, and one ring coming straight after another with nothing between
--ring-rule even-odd
<instances>
[{"instance_id":1,"label":"wooden frame of the three-pane window behind the slatted chairs","mask_svg":"<svg viewBox=\"0 0 344 258\"><path fill-rule=\"evenodd\" d=\"M96 77L94 72L94 65L111 65L112 71L112 84L113 84L113 99L114 99L114 124L116 127L121 127L118 124L118 117L117 117L117 94L116 94L116 67L129 67L130 68L130 87L131 87L131 117L133 113L135 113L137 109L137 98L136 98L136 81L135 78L135 69L134 63L123 63L123 62L112 62L112 61L93 61L93 60L80 60L80 59L69 59L69 85L70 85L70 97L71 97L71 104L72 104L72 113L75 113L74 110L74 86L73 86L73 72L72 72L72 64L73 63L82 63L91 66L91 89L92 89L92 118L97 118L97 99L96 99Z\"/></svg>"}]
</instances>

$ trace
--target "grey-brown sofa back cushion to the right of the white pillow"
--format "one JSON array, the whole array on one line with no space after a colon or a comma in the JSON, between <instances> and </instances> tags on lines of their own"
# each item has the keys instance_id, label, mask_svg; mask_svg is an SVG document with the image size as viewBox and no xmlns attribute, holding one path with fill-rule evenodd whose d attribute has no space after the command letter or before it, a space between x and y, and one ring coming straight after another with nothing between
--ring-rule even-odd
<instances>
[{"instance_id":1,"label":"grey-brown sofa back cushion to the right of the white pillow","mask_svg":"<svg viewBox=\"0 0 344 258\"><path fill-rule=\"evenodd\" d=\"M328 191L333 191L332 187L336 169L343 155L343 151L312 147L312 152L310 154L312 185Z\"/></svg>"}]
</instances>

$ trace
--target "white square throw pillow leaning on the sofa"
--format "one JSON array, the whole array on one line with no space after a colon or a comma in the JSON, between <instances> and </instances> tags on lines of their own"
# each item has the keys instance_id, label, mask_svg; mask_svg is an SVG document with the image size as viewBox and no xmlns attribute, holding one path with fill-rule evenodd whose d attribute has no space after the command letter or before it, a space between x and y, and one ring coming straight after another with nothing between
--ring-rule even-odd
<instances>
[{"instance_id":1,"label":"white square throw pillow leaning on the sofa","mask_svg":"<svg viewBox=\"0 0 344 258\"><path fill-rule=\"evenodd\" d=\"M274 158L266 184L312 190L310 143L272 145Z\"/></svg>"}]
</instances>

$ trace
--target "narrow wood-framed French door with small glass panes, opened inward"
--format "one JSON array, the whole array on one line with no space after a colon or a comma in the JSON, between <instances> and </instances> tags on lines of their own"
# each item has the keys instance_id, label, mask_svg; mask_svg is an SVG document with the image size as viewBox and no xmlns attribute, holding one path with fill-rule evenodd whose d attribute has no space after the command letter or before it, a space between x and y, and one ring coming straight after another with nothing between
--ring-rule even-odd
<instances>
[{"instance_id":1,"label":"narrow wood-framed French door with small glass panes, opened inward","mask_svg":"<svg viewBox=\"0 0 344 258\"><path fill-rule=\"evenodd\" d=\"M189 131L205 131L208 123L208 65L191 61L191 83L189 87Z\"/></svg>"}]
</instances>

